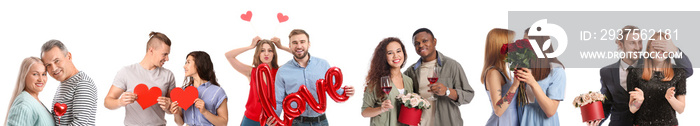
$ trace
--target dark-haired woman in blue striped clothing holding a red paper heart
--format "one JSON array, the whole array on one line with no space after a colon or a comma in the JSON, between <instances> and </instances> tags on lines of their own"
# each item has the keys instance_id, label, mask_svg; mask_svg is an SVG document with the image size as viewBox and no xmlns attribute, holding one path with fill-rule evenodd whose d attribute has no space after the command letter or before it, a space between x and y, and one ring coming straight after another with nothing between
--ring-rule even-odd
<instances>
[{"instance_id":1,"label":"dark-haired woman in blue striped clothing holding a red paper heart","mask_svg":"<svg viewBox=\"0 0 700 126\"><path fill-rule=\"evenodd\" d=\"M177 102L171 103L170 112L175 116L175 123L182 125L226 125L228 123L228 107L226 105L226 92L219 87L214 74L214 65L209 54L202 51L194 51L187 54L185 62L185 84L194 86L199 92L199 97L194 105L182 112Z\"/></svg>"}]
</instances>

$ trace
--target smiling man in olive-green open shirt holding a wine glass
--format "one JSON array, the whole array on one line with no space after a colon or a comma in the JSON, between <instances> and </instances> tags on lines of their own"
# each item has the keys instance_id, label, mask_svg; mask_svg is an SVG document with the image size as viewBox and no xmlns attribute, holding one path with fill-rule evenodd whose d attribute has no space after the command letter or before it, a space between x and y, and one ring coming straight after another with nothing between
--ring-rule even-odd
<instances>
[{"instance_id":1,"label":"smiling man in olive-green open shirt holding a wine glass","mask_svg":"<svg viewBox=\"0 0 700 126\"><path fill-rule=\"evenodd\" d=\"M464 69L456 60L435 49L437 39L427 28L413 32L413 46L420 55L418 62L404 74L413 78L413 91L423 98L435 95L433 107L423 111L422 126L462 126L459 106L468 104L474 98L474 90L469 86ZM438 81L430 84L428 74L437 69Z\"/></svg>"}]
</instances>

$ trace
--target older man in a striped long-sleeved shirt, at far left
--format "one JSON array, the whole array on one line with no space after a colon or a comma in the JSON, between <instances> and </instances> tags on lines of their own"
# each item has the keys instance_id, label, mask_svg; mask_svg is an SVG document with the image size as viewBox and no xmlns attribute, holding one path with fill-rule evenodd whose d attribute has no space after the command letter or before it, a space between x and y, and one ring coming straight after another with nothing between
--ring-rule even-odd
<instances>
[{"instance_id":1,"label":"older man in a striped long-sleeved shirt, at far left","mask_svg":"<svg viewBox=\"0 0 700 126\"><path fill-rule=\"evenodd\" d=\"M49 75L61 82L51 105L66 104L67 110L60 117L53 114L56 124L95 125L97 112L95 82L87 74L75 68L73 55L68 52L68 48L61 41L49 40L41 47L41 60Z\"/></svg>"}]
</instances>

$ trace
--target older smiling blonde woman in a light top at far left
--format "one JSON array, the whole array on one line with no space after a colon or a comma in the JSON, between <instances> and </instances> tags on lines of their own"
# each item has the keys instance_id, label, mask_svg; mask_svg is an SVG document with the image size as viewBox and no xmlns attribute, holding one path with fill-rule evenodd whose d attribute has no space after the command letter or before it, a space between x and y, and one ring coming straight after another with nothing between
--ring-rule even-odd
<instances>
[{"instance_id":1,"label":"older smiling blonde woman in a light top at far left","mask_svg":"<svg viewBox=\"0 0 700 126\"><path fill-rule=\"evenodd\" d=\"M53 126L51 112L39 100L39 92L46 84L46 68L37 57L22 61L17 85L10 99L5 125L8 126Z\"/></svg>"}]
</instances>

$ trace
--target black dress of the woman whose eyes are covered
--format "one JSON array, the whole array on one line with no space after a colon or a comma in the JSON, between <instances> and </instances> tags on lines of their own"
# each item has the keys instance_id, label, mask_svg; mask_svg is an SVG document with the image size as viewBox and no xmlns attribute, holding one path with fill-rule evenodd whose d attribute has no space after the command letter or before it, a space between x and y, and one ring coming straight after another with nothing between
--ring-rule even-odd
<instances>
[{"instance_id":1,"label":"black dress of the woman whose eyes are covered","mask_svg":"<svg viewBox=\"0 0 700 126\"><path fill-rule=\"evenodd\" d=\"M643 69L633 68L627 75L627 89L634 91L639 88L644 92L644 102L634 113L634 124L639 126L673 126L678 125L676 111L666 100L666 90L676 87L676 95L685 95L685 70L674 66L674 76L671 81L662 81L664 75L654 72L651 79L642 79Z\"/></svg>"}]
</instances>

